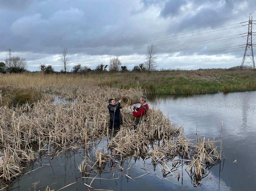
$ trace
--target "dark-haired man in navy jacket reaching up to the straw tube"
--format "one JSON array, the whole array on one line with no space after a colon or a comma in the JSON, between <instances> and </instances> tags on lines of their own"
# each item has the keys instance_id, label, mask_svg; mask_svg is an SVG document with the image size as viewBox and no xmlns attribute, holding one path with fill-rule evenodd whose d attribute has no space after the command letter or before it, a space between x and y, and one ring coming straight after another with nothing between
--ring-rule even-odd
<instances>
[{"instance_id":1,"label":"dark-haired man in navy jacket reaching up to the straw tube","mask_svg":"<svg viewBox=\"0 0 256 191\"><path fill-rule=\"evenodd\" d=\"M117 103L114 99L109 99L109 105L108 105L108 111L110 114L110 128L117 130L120 129L120 125L122 124L122 116L120 109L122 108L120 106L121 100L119 100Z\"/></svg>"}]
</instances>

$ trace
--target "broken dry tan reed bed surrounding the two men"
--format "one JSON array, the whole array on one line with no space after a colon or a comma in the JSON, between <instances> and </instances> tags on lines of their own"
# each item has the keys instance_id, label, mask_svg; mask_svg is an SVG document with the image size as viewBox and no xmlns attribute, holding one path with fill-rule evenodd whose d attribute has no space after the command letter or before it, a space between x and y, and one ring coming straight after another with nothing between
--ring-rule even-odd
<instances>
[{"instance_id":1,"label":"broken dry tan reed bed surrounding the two men","mask_svg":"<svg viewBox=\"0 0 256 191\"><path fill-rule=\"evenodd\" d=\"M20 107L0 107L0 180L3 184L18 178L28 170L27 164L38 157L58 157L70 149L85 152L82 163L77 165L87 178L93 175L96 178L103 171L111 171L111 179L121 171L127 172L127 178L139 178L129 176L130 167L123 169L123 161L142 157L143 160L151 159L164 176L174 175L181 163L187 163L186 170L198 184L206 176L206 169L220 159L214 140L188 140L182 126L174 127L169 116L154 107L148 110L146 121L136 129L132 128L135 119L129 109L121 109L123 125L115 135L111 133L108 99L119 99L133 92L145 94L140 88L87 84L27 88L42 92L41 101ZM73 99L73 102L54 103L52 94ZM99 148L99 142L103 142L103 148ZM88 187L92 188L91 184Z\"/></svg>"}]
</instances>

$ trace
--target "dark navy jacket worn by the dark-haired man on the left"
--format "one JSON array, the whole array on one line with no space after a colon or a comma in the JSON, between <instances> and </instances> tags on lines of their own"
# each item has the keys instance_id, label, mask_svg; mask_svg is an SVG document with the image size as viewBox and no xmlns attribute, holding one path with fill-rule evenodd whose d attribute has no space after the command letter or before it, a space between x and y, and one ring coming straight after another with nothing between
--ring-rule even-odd
<instances>
[{"instance_id":1,"label":"dark navy jacket worn by the dark-haired man on the left","mask_svg":"<svg viewBox=\"0 0 256 191\"><path fill-rule=\"evenodd\" d=\"M113 106L111 104L108 105L108 111L110 114L110 126L120 126L122 125L122 116L121 116L121 112L120 109L122 107L120 106L120 103L117 102L116 106Z\"/></svg>"}]
</instances>

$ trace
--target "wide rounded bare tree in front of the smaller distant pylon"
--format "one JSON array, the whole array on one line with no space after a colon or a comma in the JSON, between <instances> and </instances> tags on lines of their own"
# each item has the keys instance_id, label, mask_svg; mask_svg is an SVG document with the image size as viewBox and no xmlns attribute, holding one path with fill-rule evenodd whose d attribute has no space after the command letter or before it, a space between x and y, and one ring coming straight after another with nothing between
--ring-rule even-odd
<instances>
[{"instance_id":1,"label":"wide rounded bare tree in front of the smaller distant pylon","mask_svg":"<svg viewBox=\"0 0 256 191\"><path fill-rule=\"evenodd\" d=\"M6 71L10 73L20 73L26 71L28 64L25 58L20 58L19 56L13 58L6 58Z\"/></svg>"}]
</instances>

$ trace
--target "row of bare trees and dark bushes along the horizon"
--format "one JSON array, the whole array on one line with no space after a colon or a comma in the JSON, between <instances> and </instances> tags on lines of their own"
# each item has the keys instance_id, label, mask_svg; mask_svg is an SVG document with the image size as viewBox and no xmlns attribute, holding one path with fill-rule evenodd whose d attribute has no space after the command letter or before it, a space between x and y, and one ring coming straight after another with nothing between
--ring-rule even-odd
<instances>
[{"instance_id":1,"label":"row of bare trees and dark bushes along the horizon","mask_svg":"<svg viewBox=\"0 0 256 191\"><path fill-rule=\"evenodd\" d=\"M146 52L146 58L145 62L141 63L139 65L135 65L133 69L130 71L135 72L141 72L141 71L152 71L155 70L158 66L157 62L157 47L153 44L148 45L147 52ZM27 61L24 58L20 58L18 56L12 57L12 58L6 58L5 63L0 62L0 73L22 73L27 71L28 64ZM70 58L68 54L68 49L64 48L64 50L61 52L60 55L60 61L61 61L61 73L67 73L70 69ZM107 70L108 67L108 70ZM46 65L44 63L40 63L38 66L39 70L43 74L50 74L55 73L56 71L51 65ZM98 64L94 70L90 69L87 66L82 66L81 64L77 64L73 66L71 72L72 73L88 73L88 72L127 72L129 71L127 69L127 66L123 65L118 58L118 56L110 58L109 64Z\"/></svg>"}]
</instances>

